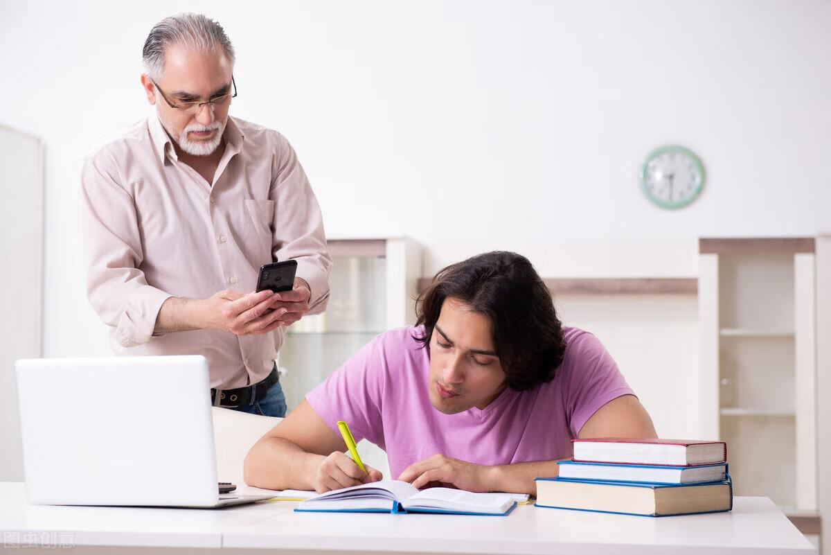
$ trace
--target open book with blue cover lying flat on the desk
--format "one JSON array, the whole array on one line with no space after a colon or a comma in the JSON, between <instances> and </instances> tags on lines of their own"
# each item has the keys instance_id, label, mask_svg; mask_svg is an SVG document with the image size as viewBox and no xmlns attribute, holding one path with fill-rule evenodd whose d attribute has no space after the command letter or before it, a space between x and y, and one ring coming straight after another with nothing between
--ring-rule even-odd
<instances>
[{"instance_id":1,"label":"open book with blue cover lying flat on the desk","mask_svg":"<svg viewBox=\"0 0 831 555\"><path fill-rule=\"evenodd\" d=\"M505 515L516 507L512 494L476 494L462 489L418 490L398 480L335 489L297 503L295 511L336 513L450 513Z\"/></svg>"}]
</instances>

